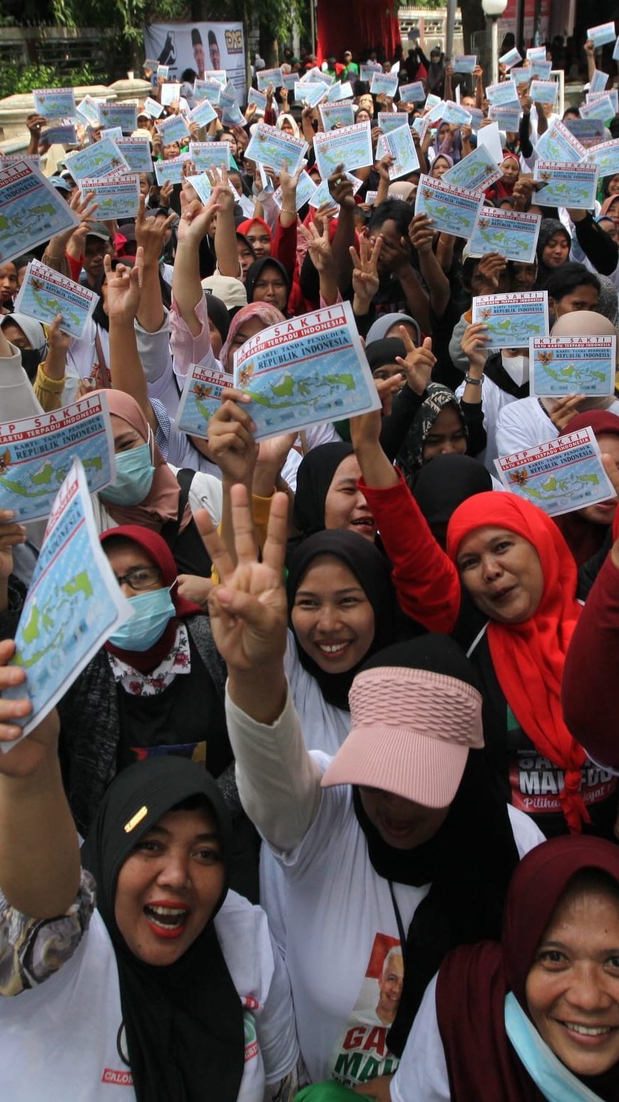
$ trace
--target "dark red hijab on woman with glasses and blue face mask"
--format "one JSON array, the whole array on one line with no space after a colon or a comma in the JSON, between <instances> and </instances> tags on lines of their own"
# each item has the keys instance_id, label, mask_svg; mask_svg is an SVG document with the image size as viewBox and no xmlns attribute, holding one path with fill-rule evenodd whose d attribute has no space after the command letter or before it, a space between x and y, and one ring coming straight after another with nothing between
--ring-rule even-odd
<instances>
[{"instance_id":1,"label":"dark red hijab on woman with glasses and blue face mask","mask_svg":"<svg viewBox=\"0 0 619 1102\"><path fill-rule=\"evenodd\" d=\"M142 551L146 552L154 565L159 566L163 585L170 590L170 586L176 580L178 571L172 551L163 537L149 528L142 528L140 525L122 525L119 528L108 528L107 532L102 532L99 536L99 540L105 549L107 540L119 536L126 540L131 540L132 543L137 543ZM170 597L176 609L176 616L172 617L161 639L158 639L152 647L148 650L122 650L120 647L115 647L112 642L106 642L106 650L109 650L111 655L116 655L117 658L132 666L135 670L154 670L155 666L159 666L163 661L174 642L178 620L185 616L204 614L204 608L199 605L194 604L193 601L185 601L184 597L178 595L176 585L171 590Z\"/></svg>"}]
</instances>

